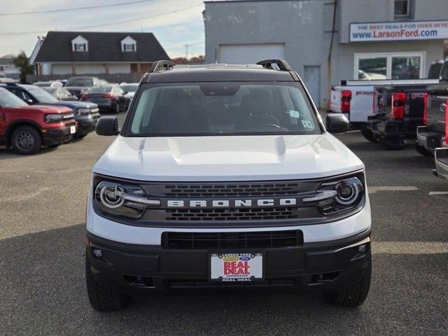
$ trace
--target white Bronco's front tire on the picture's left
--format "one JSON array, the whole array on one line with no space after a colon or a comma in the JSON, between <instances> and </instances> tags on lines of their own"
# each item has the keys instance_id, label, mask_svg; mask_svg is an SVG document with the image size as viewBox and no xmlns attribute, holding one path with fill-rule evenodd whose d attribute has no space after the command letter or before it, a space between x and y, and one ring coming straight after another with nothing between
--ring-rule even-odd
<instances>
[{"instance_id":1,"label":"white Bronco's front tire on the picture's left","mask_svg":"<svg viewBox=\"0 0 448 336\"><path fill-rule=\"evenodd\" d=\"M120 311L125 309L131 301L130 296L116 293L94 279L87 256L85 257L85 282L90 304L97 311Z\"/></svg>"}]
</instances>

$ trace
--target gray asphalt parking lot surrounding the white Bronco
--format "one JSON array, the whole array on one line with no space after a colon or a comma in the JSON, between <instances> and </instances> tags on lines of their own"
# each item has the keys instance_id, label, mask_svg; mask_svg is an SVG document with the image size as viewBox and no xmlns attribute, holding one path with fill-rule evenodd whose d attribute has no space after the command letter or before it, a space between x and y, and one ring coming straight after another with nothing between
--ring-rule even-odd
<instances>
[{"instance_id":1,"label":"gray asphalt parking lot surrounding the white Bronco","mask_svg":"<svg viewBox=\"0 0 448 336\"><path fill-rule=\"evenodd\" d=\"M448 182L412 147L338 137L365 163L372 203L372 286L357 309L316 295L186 293L98 313L83 222L90 169L112 138L34 156L0 148L0 335L447 335Z\"/></svg>"}]
</instances>

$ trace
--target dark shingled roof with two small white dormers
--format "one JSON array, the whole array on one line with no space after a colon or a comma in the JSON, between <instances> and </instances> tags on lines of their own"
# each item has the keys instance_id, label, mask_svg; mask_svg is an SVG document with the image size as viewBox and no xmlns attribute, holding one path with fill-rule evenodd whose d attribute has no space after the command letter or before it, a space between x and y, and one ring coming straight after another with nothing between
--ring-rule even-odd
<instances>
[{"instance_id":1,"label":"dark shingled roof with two small white dormers","mask_svg":"<svg viewBox=\"0 0 448 336\"><path fill-rule=\"evenodd\" d=\"M73 52L71 40L83 36L87 52ZM120 41L131 36L137 41L136 52L121 51ZM48 31L35 62L154 62L169 59L153 33L106 33L88 31Z\"/></svg>"}]
</instances>

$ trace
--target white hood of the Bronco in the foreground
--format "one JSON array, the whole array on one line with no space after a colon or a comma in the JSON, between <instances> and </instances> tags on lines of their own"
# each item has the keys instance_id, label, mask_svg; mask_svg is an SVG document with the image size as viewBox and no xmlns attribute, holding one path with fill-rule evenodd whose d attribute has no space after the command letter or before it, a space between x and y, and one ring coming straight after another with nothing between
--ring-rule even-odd
<instances>
[{"instance_id":1,"label":"white hood of the Bronco in the foreground","mask_svg":"<svg viewBox=\"0 0 448 336\"><path fill-rule=\"evenodd\" d=\"M140 181L312 179L363 169L329 133L244 137L118 136L93 172Z\"/></svg>"}]
</instances>

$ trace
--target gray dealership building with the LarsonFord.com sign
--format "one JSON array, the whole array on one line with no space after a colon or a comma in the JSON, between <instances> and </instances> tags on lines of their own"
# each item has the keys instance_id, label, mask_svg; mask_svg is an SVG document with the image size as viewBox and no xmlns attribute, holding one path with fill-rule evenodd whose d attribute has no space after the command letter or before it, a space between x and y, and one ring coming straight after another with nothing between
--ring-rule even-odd
<instances>
[{"instance_id":1,"label":"gray dealership building with the LarsonFord.com sign","mask_svg":"<svg viewBox=\"0 0 448 336\"><path fill-rule=\"evenodd\" d=\"M343 79L426 78L444 57L447 0L205 1L206 62L286 59L318 106Z\"/></svg>"}]
</instances>

